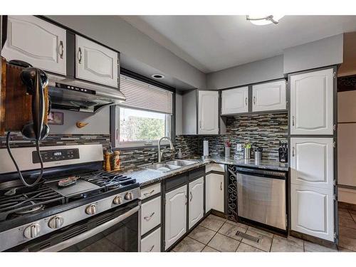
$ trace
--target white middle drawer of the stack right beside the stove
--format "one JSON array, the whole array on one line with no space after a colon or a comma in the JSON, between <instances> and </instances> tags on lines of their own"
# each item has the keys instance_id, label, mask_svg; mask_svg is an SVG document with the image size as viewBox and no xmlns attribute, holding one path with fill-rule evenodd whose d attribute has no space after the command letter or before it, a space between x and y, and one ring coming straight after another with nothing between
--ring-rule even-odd
<instances>
[{"instance_id":1,"label":"white middle drawer of the stack right beside the stove","mask_svg":"<svg viewBox=\"0 0 356 267\"><path fill-rule=\"evenodd\" d=\"M157 197L141 206L141 235L161 223L161 197Z\"/></svg>"}]
</instances>

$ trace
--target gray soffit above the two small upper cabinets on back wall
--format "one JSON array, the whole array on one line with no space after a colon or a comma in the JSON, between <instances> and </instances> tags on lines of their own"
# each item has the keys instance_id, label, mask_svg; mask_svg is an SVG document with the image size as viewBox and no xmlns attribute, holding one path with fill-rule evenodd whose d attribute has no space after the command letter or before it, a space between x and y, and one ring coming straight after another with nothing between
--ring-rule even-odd
<instances>
[{"instance_id":1,"label":"gray soffit above the two small upper cabinets on back wall","mask_svg":"<svg viewBox=\"0 0 356 267\"><path fill-rule=\"evenodd\" d=\"M283 55L209 73L206 87L216 90L278 78L283 78Z\"/></svg>"}]
</instances>

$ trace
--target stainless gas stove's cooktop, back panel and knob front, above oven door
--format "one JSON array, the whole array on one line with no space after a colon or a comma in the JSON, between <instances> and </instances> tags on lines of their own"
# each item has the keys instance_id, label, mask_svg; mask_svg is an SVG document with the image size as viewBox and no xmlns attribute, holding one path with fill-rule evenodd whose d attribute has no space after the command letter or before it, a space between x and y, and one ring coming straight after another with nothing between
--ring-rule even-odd
<instances>
[{"instance_id":1,"label":"stainless gas stove's cooktop, back panel and knob front, above oven door","mask_svg":"<svg viewBox=\"0 0 356 267\"><path fill-rule=\"evenodd\" d=\"M36 159L23 157L31 150L26 147L13 151L20 169L26 169L24 177L36 177L39 172ZM140 185L135 179L100 170L101 145L46 147L42 153L43 181L35 187L23 187L16 183L16 172L9 172L14 169L6 150L0 150L0 162L6 166L0 171L6 172L0 174L0 251L16 246L20 246L16 250L22 250L22 244L32 246L43 236L52 236L56 231L129 203L139 206Z\"/></svg>"}]
</instances>

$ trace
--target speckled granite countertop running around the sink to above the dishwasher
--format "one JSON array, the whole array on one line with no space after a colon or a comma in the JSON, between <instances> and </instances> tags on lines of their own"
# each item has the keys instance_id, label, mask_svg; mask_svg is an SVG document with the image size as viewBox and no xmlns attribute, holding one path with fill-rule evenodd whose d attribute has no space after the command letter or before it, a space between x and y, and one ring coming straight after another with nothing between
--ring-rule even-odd
<instances>
[{"instance_id":1,"label":"speckled granite countertop running around the sink to above the dishwasher","mask_svg":"<svg viewBox=\"0 0 356 267\"><path fill-rule=\"evenodd\" d=\"M120 174L135 178L140 183L140 187L145 187L155 182L160 182L169 177L173 177L177 174L182 174L192 169L197 169L209 163L238 165L241 167L255 167L258 169L273 169L283 172L288 172L288 164L281 163L273 159L261 159L255 161L254 159L242 159L242 158L226 158L226 157L193 157L197 163L179 168L172 172L159 172L153 169L143 169L142 167L135 167L134 169L126 170Z\"/></svg>"}]
</instances>

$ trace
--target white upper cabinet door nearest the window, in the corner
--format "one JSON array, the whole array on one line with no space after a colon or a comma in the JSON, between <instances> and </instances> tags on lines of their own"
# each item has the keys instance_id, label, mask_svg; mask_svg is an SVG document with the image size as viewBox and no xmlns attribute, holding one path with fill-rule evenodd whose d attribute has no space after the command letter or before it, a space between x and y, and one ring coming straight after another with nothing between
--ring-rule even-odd
<instances>
[{"instance_id":1,"label":"white upper cabinet door nearest the window, in the corner","mask_svg":"<svg viewBox=\"0 0 356 267\"><path fill-rule=\"evenodd\" d=\"M219 133L219 92L198 92L199 135Z\"/></svg>"}]
</instances>

